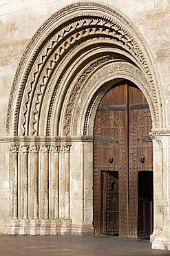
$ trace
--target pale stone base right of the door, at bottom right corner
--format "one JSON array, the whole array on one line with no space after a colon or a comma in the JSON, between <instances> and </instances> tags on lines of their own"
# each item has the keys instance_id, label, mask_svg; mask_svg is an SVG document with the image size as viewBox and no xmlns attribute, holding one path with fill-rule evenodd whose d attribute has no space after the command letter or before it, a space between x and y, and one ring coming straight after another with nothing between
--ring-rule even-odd
<instances>
[{"instance_id":1,"label":"pale stone base right of the door, at bottom right corner","mask_svg":"<svg viewBox=\"0 0 170 256\"><path fill-rule=\"evenodd\" d=\"M158 232L158 234L151 235L151 248L156 250L170 250L170 239L169 235L163 231Z\"/></svg>"}]
</instances>

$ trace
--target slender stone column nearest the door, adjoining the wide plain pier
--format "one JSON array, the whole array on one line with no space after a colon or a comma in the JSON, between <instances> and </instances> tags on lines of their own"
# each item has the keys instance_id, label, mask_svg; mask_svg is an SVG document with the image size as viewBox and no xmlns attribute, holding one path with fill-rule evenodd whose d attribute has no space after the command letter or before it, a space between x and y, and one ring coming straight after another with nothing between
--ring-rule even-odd
<instances>
[{"instance_id":1,"label":"slender stone column nearest the door, adjoining the wide plain pier","mask_svg":"<svg viewBox=\"0 0 170 256\"><path fill-rule=\"evenodd\" d=\"M70 219L70 147L64 143L61 147L61 234L71 233L72 221Z\"/></svg>"}]
</instances>

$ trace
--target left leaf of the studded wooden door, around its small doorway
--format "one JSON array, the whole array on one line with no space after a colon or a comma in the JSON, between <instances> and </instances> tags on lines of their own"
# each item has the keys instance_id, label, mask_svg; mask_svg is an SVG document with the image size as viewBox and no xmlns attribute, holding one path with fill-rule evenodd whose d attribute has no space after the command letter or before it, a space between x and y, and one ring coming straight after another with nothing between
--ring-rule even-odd
<instances>
[{"instance_id":1,"label":"left leaf of the studded wooden door, around its small doorway","mask_svg":"<svg viewBox=\"0 0 170 256\"><path fill-rule=\"evenodd\" d=\"M111 89L100 102L94 127L94 227L102 232L101 219L101 171L119 172L119 234L127 234L127 85ZM113 102L114 99L114 102ZM114 103L114 104L113 104ZM109 158L113 156L113 161ZM123 161L122 161L123 159ZM120 199L121 197L121 199Z\"/></svg>"}]
</instances>

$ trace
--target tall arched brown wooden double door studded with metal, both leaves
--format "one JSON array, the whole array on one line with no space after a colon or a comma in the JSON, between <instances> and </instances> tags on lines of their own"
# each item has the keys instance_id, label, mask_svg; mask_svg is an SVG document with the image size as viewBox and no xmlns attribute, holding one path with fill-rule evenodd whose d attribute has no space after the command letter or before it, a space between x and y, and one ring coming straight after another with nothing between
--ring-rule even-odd
<instances>
[{"instance_id":1,"label":"tall arched brown wooden double door studded with metal, both leaves","mask_svg":"<svg viewBox=\"0 0 170 256\"><path fill-rule=\"evenodd\" d=\"M120 83L105 94L94 125L95 232L120 237L138 235L138 172L152 171L149 131L149 106L134 84ZM109 208L117 211L117 216L110 214L108 217L108 177L115 179L116 173L118 209L114 209L111 201Z\"/></svg>"}]
</instances>

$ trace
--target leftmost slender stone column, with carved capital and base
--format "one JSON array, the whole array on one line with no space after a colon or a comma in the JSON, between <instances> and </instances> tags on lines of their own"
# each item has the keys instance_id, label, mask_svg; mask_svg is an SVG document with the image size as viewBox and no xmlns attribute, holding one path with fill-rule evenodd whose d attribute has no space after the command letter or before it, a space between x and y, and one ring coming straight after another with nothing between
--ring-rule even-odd
<instances>
[{"instance_id":1,"label":"leftmost slender stone column, with carved capital and base","mask_svg":"<svg viewBox=\"0 0 170 256\"><path fill-rule=\"evenodd\" d=\"M10 146L10 218L12 219L12 235L19 234L19 219L18 219L18 154L19 145Z\"/></svg>"}]
</instances>

